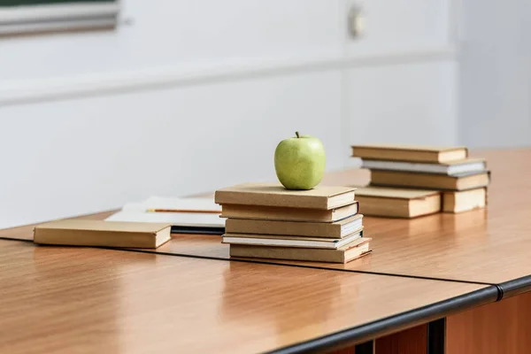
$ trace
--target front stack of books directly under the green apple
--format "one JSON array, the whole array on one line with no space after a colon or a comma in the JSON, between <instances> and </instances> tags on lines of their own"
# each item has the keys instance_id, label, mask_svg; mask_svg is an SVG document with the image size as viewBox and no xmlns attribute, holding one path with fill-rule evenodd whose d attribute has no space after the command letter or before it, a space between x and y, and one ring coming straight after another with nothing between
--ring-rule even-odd
<instances>
[{"instance_id":1,"label":"front stack of books directly under the green apple","mask_svg":"<svg viewBox=\"0 0 531 354\"><path fill-rule=\"evenodd\" d=\"M231 257L346 263L370 252L355 190L245 183L219 189Z\"/></svg>"}]
</instances>

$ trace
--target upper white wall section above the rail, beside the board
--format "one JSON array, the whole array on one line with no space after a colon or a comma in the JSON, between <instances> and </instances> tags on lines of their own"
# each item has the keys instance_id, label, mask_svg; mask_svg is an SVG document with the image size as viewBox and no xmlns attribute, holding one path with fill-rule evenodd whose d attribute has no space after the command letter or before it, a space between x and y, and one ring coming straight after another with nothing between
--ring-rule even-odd
<instances>
[{"instance_id":1,"label":"upper white wall section above the rail, beside the board","mask_svg":"<svg viewBox=\"0 0 531 354\"><path fill-rule=\"evenodd\" d=\"M48 79L154 68L210 68L242 59L337 56L339 0L125 0L114 33L0 42L0 78ZM35 65L38 62L39 65Z\"/></svg>"}]
</instances>

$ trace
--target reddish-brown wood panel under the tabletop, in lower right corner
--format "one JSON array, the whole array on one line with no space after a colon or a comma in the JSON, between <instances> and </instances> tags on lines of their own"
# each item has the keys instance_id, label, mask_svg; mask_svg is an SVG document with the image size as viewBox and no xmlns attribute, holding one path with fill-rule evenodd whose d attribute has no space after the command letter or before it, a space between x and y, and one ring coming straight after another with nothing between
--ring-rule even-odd
<instances>
[{"instance_id":1,"label":"reddish-brown wood panel under the tabletop, in lower right corner","mask_svg":"<svg viewBox=\"0 0 531 354\"><path fill-rule=\"evenodd\" d=\"M455 354L527 354L531 348L531 292L446 319L446 349Z\"/></svg>"}]
</instances>

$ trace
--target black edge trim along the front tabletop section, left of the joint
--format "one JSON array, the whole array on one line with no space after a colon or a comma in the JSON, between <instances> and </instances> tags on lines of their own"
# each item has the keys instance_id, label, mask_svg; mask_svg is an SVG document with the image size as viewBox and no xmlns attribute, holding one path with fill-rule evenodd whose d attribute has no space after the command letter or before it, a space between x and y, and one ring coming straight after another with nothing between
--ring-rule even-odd
<instances>
[{"instance_id":1,"label":"black edge trim along the front tabletop section, left of the joint","mask_svg":"<svg viewBox=\"0 0 531 354\"><path fill-rule=\"evenodd\" d=\"M450 312L466 309L472 306L494 302L497 297L495 286L488 286L468 294L452 297L435 304L419 307L408 312L402 312L384 319L366 323L363 326L351 327L331 335L324 335L307 342L300 342L278 350L269 351L273 354L295 354L308 352L322 352L346 347L356 342L363 342L378 335L385 335L399 327L411 326L416 323L427 322L444 316Z\"/></svg>"}]
</instances>

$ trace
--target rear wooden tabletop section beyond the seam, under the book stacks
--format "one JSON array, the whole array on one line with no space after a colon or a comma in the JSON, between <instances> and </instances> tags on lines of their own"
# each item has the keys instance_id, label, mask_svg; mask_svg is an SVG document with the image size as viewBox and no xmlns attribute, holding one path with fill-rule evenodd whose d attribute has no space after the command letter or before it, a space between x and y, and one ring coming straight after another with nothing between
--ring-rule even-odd
<instances>
[{"instance_id":1,"label":"rear wooden tabletop section beyond the seam, under the book stacks","mask_svg":"<svg viewBox=\"0 0 531 354\"><path fill-rule=\"evenodd\" d=\"M492 171L487 209L417 219L366 217L365 235L373 238L369 256L346 265L273 262L490 284L530 275L531 150L478 150L472 156L487 158ZM368 178L358 169L328 173L323 183L363 184ZM0 236L31 238L31 227ZM228 259L219 236L176 235L157 251Z\"/></svg>"}]
</instances>

